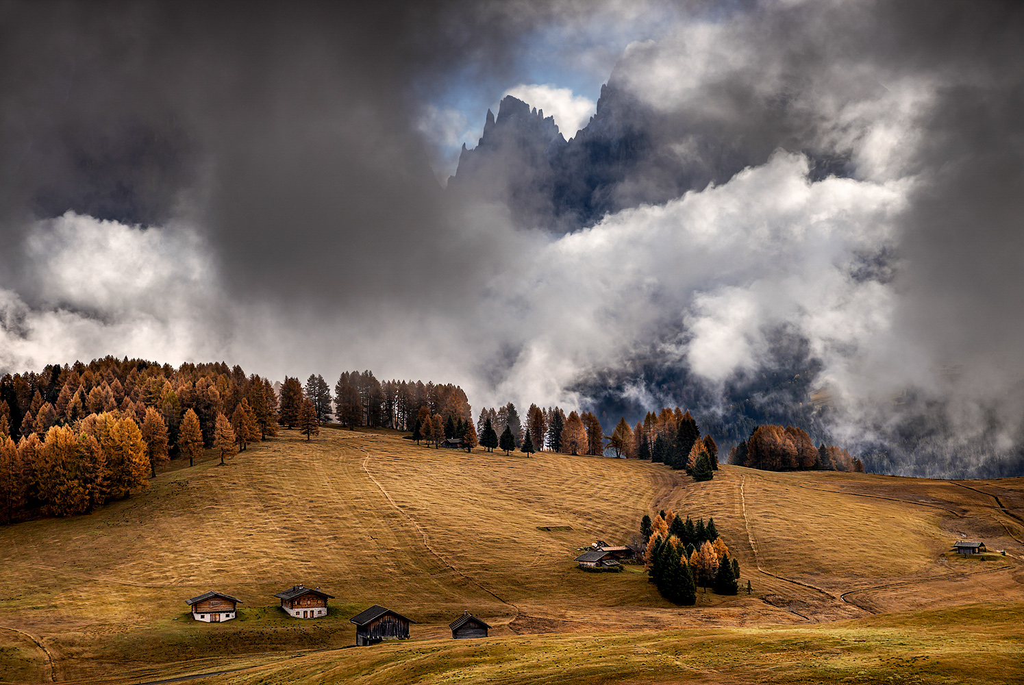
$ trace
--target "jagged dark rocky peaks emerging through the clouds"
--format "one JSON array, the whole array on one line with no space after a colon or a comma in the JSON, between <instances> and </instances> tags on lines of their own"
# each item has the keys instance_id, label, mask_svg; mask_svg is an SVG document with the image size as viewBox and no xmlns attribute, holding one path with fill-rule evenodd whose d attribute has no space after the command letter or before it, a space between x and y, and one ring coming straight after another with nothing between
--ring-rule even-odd
<instances>
[{"instance_id":1,"label":"jagged dark rocky peaks emerging through the clouds","mask_svg":"<svg viewBox=\"0 0 1024 685\"><path fill-rule=\"evenodd\" d=\"M449 188L505 204L520 226L570 231L609 212L724 183L779 146L808 152L816 176L846 172L846 160L815 155L771 122L737 126L697 112L655 112L612 77L597 113L568 141L543 111L505 97L497 119L487 111L479 144L463 147Z\"/></svg>"}]
</instances>

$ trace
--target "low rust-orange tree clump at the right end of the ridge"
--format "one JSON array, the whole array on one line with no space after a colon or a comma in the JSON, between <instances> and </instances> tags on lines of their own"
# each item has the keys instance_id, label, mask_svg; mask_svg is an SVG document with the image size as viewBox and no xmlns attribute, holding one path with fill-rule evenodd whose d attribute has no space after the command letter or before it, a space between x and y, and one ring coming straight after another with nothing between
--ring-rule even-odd
<instances>
[{"instance_id":1,"label":"low rust-orange tree clump at the right end of the ridge","mask_svg":"<svg viewBox=\"0 0 1024 685\"><path fill-rule=\"evenodd\" d=\"M807 431L797 426L757 426L732 448L729 463L763 471L864 471L863 463L849 452L824 443L815 447Z\"/></svg>"}]
</instances>

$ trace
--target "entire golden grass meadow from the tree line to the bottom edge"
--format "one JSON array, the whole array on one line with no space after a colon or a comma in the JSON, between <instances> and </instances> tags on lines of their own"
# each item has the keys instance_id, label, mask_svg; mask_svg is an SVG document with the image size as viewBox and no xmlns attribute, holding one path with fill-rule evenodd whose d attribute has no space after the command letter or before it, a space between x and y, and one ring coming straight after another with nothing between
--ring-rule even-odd
<instances>
[{"instance_id":1,"label":"entire golden grass meadow from the tree line to the bottom edge","mask_svg":"<svg viewBox=\"0 0 1024 685\"><path fill-rule=\"evenodd\" d=\"M0 682L1024 682L1024 479L722 466L696 483L400 436L284 431L91 515L0 527ZM681 608L640 566L574 567L670 508L715 516L751 595ZM957 539L1007 556L957 558ZM337 597L326 618L278 608L296 584ZM240 617L193 622L207 590ZM348 648L374 603L413 639ZM493 637L451 640L464 609Z\"/></svg>"}]
</instances>

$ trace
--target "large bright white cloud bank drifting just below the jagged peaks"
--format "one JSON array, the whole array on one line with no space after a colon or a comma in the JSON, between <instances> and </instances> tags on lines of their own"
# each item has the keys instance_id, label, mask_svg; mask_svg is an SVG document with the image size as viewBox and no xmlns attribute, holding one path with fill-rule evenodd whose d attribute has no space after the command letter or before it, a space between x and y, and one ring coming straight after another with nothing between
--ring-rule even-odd
<instances>
[{"instance_id":1,"label":"large bright white cloud bank drifting just below the jagged peaks","mask_svg":"<svg viewBox=\"0 0 1024 685\"><path fill-rule=\"evenodd\" d=\"M910 183L807 174L805 157L778 152L720 186L553 239L497 275L500 299L486 306L502 315L487 326L522 346L495 398L570 402L566 387L647 352L679 320L686 340L659 353L712 384L757 367L780 325L808 336L824 376L843 381L886 333L893 297L854 279L852 260L895 240Z\"/></svg>"}]
</instances>

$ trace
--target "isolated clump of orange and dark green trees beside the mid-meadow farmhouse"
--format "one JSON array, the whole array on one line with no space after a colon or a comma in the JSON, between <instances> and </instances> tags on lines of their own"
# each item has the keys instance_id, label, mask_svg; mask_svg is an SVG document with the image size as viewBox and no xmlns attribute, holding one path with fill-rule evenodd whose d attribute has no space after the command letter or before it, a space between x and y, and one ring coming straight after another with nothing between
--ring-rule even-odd
<instances>
[{"instance_id":1,"label":"isolated clump of orange and dark green trees beside the mid-meadow farmhouse","mask_svg":"<svg viewBox=\"0 0 1024 685\"><path fill-rule=\"evenodd\" d=\"M673 511L662 511L640 522L643 537L644 564L651 583L670 602L693 605L696 589L711 587L720 595L735 595L739 591L739 562L729 554L729 548L719 537L715 519L697 519Z\"/></svg>"}]
</instances>

